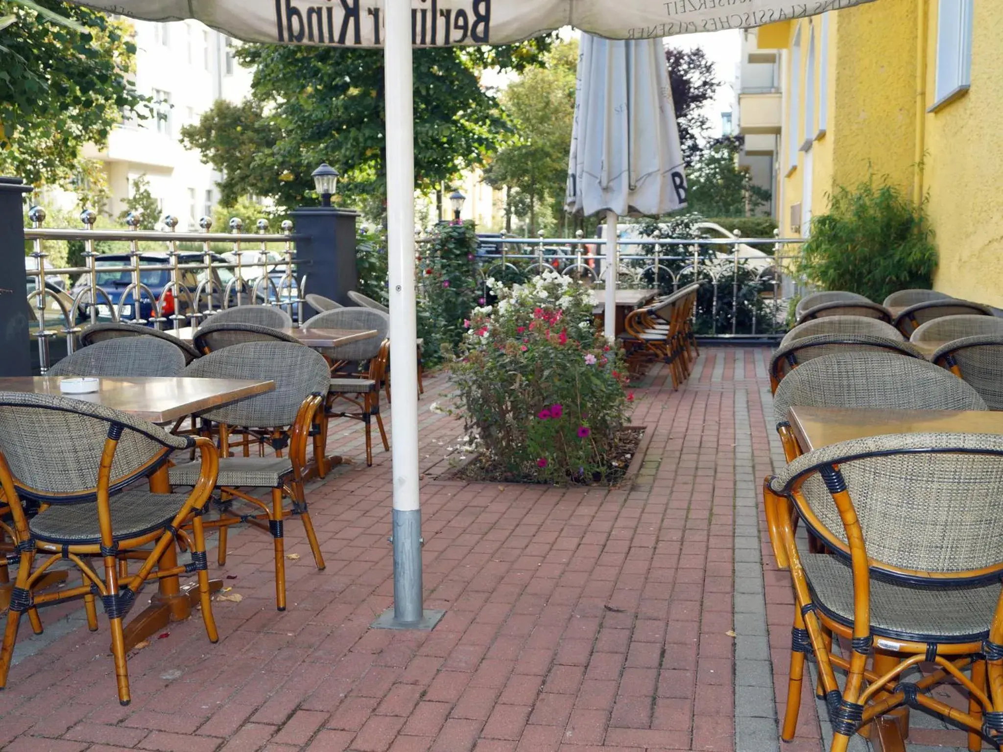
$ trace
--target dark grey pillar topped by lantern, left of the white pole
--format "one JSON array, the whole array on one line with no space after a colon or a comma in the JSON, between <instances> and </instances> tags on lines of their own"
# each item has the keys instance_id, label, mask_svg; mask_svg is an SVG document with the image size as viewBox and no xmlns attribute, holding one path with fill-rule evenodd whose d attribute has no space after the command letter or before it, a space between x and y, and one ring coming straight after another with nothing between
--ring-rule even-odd
<instances>
[{"instance_id":1,"label":"dark grey pillar topped by lantern, left of the white pole","mask_svg":"<svg viewBox=\"0 0 1003 752\"><path fill-rule=\"evenodd\" d=\"M292 213L296 260L305 292L354 306L348 293L358 286L355 221L359 213L332 207L302 207ZM312 315L312 314L311 314Z\"/></svg>"}]
</instances>

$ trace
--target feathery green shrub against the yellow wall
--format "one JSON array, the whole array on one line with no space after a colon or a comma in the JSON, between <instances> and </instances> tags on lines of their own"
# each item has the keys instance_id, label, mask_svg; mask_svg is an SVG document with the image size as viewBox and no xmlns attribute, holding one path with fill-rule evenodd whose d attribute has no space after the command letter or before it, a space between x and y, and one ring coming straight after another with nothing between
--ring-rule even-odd
<instances>
[{"instance_id":1,"label":"feathery green shrub against the yellow wall","mask_svg":"<svg viewBox=\"0 0 1003 752\"><path fill-rule=\"evenodd\" d=\"M925 207L874 179L830 197L812 218L798 272L821 290L847 290L881 302L897 290L929 288L937 269Z\"/></svg>"}]
</instances>

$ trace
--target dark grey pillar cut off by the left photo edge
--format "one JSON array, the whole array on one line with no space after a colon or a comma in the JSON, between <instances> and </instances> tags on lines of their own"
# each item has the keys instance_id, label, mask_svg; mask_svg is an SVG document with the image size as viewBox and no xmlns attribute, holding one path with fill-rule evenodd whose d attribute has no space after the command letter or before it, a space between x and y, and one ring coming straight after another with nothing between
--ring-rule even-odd
<instances>
[{"instance_id":1,"label":"dark grey pillar cut off by the left photo edge","mask_svg":"<svg viewBox=\"0 0 1003 752\"><path fill-rule=\"evenodd\" d=\"M28 278L24 273L23 197L20 177L0 177L0 376L31 375Z\"/></svg>"}]
</instances>

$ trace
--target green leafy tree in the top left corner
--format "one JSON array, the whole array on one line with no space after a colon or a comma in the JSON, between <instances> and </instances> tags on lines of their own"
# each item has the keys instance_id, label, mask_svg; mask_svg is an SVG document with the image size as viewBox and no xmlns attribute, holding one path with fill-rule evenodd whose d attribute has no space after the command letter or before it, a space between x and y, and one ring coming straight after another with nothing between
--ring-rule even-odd
<instances>
[{"instance_id":1,"label":"green leafy tree in the top left corner","mask_svg":"<svg viewBox=\"0 0 1003 752\"><path fill-rule=\"evenodd\" d=\"M80 150L103 145L123 116L147 114L127 77L135 45L124 21L79 5L0 0L0 173L67 184ZM77 28L52 20L52 12Z\"/></svg>"}]
</instances>

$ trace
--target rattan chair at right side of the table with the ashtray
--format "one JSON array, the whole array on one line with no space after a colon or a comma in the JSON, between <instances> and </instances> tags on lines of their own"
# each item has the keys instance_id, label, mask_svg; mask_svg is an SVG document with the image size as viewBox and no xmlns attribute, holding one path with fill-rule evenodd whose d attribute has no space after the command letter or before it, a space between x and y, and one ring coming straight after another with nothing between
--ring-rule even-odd
<instances>
[{"instance_id":1,"label":"rattan chair at right side of the table with the ashtray","mask_svg":"<svg viewBox=\"0 0 1003 752\"><path fill-rule=\"evenodd\" d=\"M185 370L186 376L199 378L243 378L271 380L275 390L202 414L219 426L220 472L217 485L222 491L220 513L207 519L207 527L220 529L219 562L227 559L227 530L231 525L248 521L271 532L275 546L275 601L279 611L286 609L286 570L284 520L298 515L303 521L307 540L318 570L324 569L307 510L303 477L307 466L306 451L316 414L322 409L330 382L327 362L308 347L292 343L249 342L210 353ZM269 434L277 449L274 456L231 457L229 437L235 427L253 428ZM288 441L288 452L281 456ZM172 485L191 485L198 468L179 464L171 468ZM242 488L270 488L272 503L250 495ZM292 511L284 508L284 497L292 502ZM234 500L249 505L249 513L237 513Z\"/></svg>"}]
</instances>

